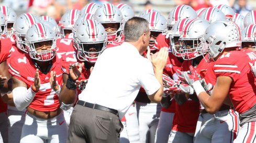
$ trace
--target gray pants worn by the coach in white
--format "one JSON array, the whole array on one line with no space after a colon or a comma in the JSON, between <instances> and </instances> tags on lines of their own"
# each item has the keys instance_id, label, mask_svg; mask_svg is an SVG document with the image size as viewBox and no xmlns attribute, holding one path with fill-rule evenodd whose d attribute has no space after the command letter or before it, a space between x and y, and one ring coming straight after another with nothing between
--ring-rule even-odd
<instances>
[{"instance_id":1,"label":"gray pants worn by the coach in white","mask_svg":"<svg viewBox=\"0 0 256 143\"><path fill-rule=\"evenodd\" d=\"M119 142L122 128L117 115L76 105L70 119L67 142Z\"/></svg>"}]
</instances>

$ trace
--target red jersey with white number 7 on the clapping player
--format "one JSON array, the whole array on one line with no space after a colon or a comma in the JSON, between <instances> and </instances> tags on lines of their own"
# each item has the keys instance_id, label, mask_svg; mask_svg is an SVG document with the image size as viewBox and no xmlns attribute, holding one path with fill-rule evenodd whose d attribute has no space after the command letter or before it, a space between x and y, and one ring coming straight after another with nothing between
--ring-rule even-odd
<instances>
[{"instance_id":1,"label":"red jersey with white number 7 on the clapping player","mask_svg":"<svg viewBox=\"0 0 256 143\"><path fill-rule=\"evenodd\" d=\"M12 58L9 63L10 74L26 83L28 88L34 84L36 69L37 67L31 58L24 55ZM59 97L51 89L49 82L51 71L56 72L56 81L62 85L61 60L54 57L51 70L48 73L44 74L39 70L40 89L28 107L37 111L55 111L60 107Z\"/></svg>"}]
</instances>

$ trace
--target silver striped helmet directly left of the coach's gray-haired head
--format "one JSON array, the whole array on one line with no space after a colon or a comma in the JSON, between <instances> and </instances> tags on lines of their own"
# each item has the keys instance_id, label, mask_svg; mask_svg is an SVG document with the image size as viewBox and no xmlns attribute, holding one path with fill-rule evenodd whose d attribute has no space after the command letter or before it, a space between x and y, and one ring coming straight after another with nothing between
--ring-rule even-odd
<instances>
[{"instance_id":1,"label":"silver striped helmet directly left of the coach's gray-haired head","mask_svg":"<svg viewBox=\"0 0 256 143\"><path fill-rule=\"evenodd\" d=\"M124 18L120 9L114 5L104 4L96 10L93 19L97 20L105 28L108 42L118 41L119 36L123 36ZM112 28L109 27L109 25L112 24L118 24L115 28L117 30L113 31ZM111 29L111 31L108 31L108 29Z\"/></svg>"}]
</instances>

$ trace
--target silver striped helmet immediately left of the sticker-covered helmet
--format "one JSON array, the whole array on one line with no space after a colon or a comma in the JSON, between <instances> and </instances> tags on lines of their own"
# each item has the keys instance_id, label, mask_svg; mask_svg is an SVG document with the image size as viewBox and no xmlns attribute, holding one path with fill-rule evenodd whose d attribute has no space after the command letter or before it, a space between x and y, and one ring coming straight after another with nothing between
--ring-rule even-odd
<instances>
[{"instance_id":1,"label":"silver striped helmet immediately left of the sticker-covered helmet","mask_svg":"<svg viewBox=\"0 0 256 143\"><path fill-rule=\"evenodd\" d=\"M180 36L180 53L184 60L191 60L206 53L201 41L209 25L208 20L201 18L187 22Z\"/></svg>"}]
</instances>

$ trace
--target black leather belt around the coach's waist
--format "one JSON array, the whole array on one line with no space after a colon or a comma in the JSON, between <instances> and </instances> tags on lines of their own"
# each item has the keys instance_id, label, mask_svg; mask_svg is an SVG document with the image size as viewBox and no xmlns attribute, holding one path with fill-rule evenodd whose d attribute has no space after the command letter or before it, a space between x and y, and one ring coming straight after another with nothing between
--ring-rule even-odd
<instances>
[{"instance_id":1,"label":"black leather belt around the coach's waist","mask_svg":"<svg viewBox=\"0 0 256 143\"><path fill-rule=\"evenodd\" d=\"M104 107L104 106L101 106L101 105L85 102L85 101L82 101L82 100L78 100L76 104L84 106L84 107L89 107L89 108L92 108L92 109L98 109L98 110L110 112L110 113L113 113L113 114L118 116L118 111L115 110L115 109L110 109L110 108L107 108L107 107Z\"/></svg>"}]
</instances>

